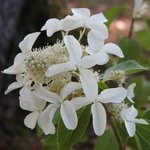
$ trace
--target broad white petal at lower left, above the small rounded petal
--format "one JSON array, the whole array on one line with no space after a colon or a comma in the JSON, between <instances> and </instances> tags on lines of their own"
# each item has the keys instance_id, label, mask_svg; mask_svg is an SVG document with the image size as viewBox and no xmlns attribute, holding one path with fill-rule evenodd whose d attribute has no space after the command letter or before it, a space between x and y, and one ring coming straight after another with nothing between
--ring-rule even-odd
<instances>
[{"instance_id":1,"label":"broad white petal at lower left, above the small rounded petal","mask_svg":"<svg viewBox=\"0 0 150 150\"><path fill-rule=\"evenodd\" d=\"M41 111L46 102L35 96L28 88L23 87L20 90L20 107L28 111Z\"/></svg>"}]
</instances>

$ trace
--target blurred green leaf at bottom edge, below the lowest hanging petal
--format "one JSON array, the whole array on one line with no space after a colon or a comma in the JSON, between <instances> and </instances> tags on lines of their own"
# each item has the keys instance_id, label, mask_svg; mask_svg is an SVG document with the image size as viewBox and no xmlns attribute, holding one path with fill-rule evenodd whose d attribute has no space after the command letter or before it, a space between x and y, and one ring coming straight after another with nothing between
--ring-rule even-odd
<instances>
[{"instance_id":1,"label":"blurred green leaf at bottom edge, below the lowest hanging petal","mask_svg":"<svg viewBox=\"0 0 150 150\"><path fill-rule=\"evenodd\" d=\"M108 129L105 133L98 137L94 150L119 150L118 143L112 129Z\"/></svg>"}]
</instances>

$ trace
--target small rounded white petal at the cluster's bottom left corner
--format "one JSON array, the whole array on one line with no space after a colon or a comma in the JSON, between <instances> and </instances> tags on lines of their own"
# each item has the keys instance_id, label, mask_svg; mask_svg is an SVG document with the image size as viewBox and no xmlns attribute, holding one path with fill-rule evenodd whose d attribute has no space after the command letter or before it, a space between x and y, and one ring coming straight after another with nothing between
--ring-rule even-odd
<instances>
[{"instance_id":1,"label":"small rounded white petal at the cluster's bottom left corner","mask_svg":"<svg viewBox=\"0 0 150 150\"><path fill-rule=\"evenodd\" d=\"M39 117L39 112L32 112L27 115L24 119L24 124L30 129L34 129L36 126L37 119Z\"/></svg>"}]
</instances>

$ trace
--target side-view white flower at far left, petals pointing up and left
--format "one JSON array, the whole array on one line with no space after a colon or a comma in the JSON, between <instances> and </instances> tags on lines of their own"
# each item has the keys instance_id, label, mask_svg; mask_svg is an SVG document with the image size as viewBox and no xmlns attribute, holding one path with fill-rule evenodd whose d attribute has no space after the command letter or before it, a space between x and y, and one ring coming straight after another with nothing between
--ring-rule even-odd
<instances>
[{"instance_id":1,"label":"side-view white flower at far left, petals pointing up and left","mask_svg":"<svg viewBox=\"0 0 150 150\"><path fill-rule=\"evenodd\" d=\"M14 59L14 64L9 68L2 71L5 74L20 74L25 72L25 58L30 53L32 46L39 36L40 32L35 32L28 34L23 41L20 42L19 47L21 49L21 53L17 54Z\"/></svg>"}]
</instances>

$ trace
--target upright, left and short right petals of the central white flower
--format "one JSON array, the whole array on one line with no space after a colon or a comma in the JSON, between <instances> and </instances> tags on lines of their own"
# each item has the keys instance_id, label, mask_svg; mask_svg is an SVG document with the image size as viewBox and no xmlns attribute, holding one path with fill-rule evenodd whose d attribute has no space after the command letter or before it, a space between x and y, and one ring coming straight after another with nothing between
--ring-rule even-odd
<instances>
[{"instance_id":1,"label":"upright, left and short right petals of the central white flower","mask_svg":"<svg viewBox=\"0 0 150 150\"><path fill-rule=\"evenodd\" d=\"M85 62L84 57L81 58L83 54L82 47L72 35L65 36L64 43L69 52L69 62L51 65L46 72L46 76L50 77L76 69L80 71L82 68L90 68L95 65L93 61Z\"/></svg>"}]
</instances>

